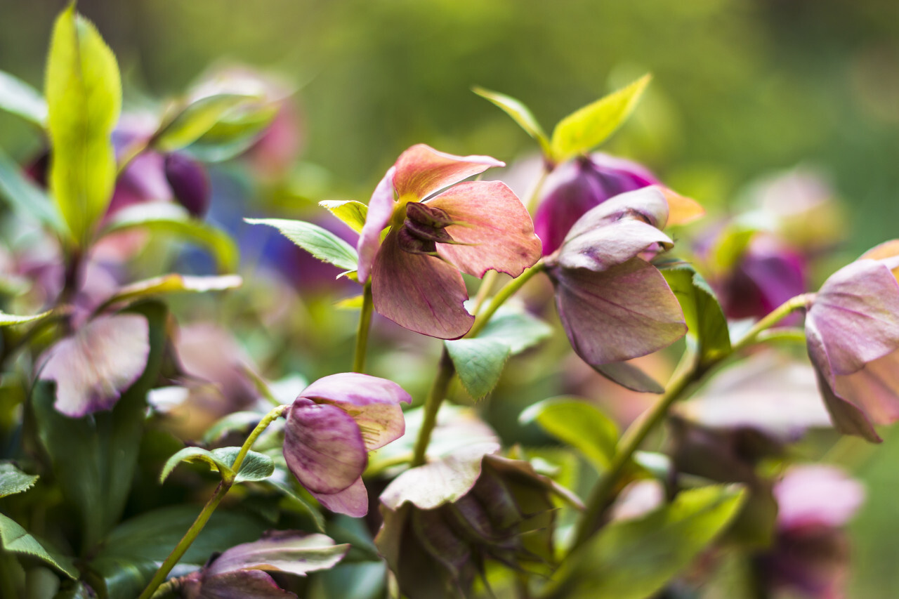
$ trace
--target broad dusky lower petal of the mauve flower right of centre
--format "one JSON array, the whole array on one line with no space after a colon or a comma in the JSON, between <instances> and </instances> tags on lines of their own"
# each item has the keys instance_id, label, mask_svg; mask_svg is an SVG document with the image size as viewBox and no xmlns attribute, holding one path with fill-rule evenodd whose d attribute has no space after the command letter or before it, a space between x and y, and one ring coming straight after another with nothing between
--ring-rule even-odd
<instances>
[{"instance_id":1,"label":"broad dusky lower petal of the mauve flower right of centre","mask_svg":"<svg viewBox=\"0 0 899 599\"><path fill-rule=\"evenodd\" d=\"M601 273L578 268L550 274L565 333L588 364L653 353L687 332L681 306L662 273L641 258Z\"/></svg>"}]
</instances>

